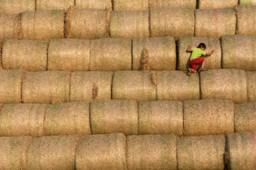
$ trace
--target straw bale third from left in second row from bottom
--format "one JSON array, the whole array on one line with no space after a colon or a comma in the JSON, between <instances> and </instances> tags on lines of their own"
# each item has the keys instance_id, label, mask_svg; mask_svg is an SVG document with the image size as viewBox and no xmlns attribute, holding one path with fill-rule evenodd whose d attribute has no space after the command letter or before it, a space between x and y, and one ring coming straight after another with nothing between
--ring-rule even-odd
<instances>
[{"instance_id":1,"label":"straw bale third from left in second row from bottom","mask_svg":"<svg viewBox=\"0 0 256 170\"><path fill-rule=\"evenodd\" d=\"M123 132L138 134L138 105L133 100L103 100L90 103L93 134Z\"/></svg>"}]
</instances>

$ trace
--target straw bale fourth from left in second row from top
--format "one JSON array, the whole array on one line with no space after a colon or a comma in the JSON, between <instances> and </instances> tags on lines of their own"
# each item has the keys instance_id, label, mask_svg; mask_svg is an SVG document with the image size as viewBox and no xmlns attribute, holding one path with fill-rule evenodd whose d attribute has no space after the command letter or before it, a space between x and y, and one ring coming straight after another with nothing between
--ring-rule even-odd
<instances>
[{"instance_id":1,"label":"straw bale fourth from left in second row from top","mask_svg":"<svg viewBox=\"0 0 256 170\"><path fill-rule=\"evenodd\" d=\"M110 18L111 38L149 37L149 16L149 10L112 12Z\"/></svg>"}]
</instances>

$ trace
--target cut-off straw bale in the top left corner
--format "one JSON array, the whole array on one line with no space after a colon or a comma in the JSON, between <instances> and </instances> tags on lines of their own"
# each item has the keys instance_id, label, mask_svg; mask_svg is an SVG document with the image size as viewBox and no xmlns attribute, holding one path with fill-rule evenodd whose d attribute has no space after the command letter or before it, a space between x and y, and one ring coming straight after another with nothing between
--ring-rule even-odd
<instances>
[{"instance_id":1,"label":"cut-off straw bale in the top left corner","mask_svg":"<svg viewBox=\"0 0 256 170\"><path fill-rule=\"evenodd\" d=\"M0 13L16 14L35 10L35 0L0 1Z\"/></svg>"}]
</instances>

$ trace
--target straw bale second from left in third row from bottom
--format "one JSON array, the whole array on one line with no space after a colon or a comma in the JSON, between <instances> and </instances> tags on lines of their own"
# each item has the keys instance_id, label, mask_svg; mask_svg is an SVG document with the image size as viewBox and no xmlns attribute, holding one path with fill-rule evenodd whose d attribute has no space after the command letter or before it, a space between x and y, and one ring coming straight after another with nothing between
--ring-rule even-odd
<instances>
[{"instance_id":1,"label":"straw bale second from left in third row from bottom","mask_svg":"<svg viewBox=\"0 0 256 170\"><path fill-rule=\"evenodd\" d=\"M69 102L69 88L67 71L28 72L23 78L22 102L50 104L54 99Z\"/></svg>"}]
</instances>

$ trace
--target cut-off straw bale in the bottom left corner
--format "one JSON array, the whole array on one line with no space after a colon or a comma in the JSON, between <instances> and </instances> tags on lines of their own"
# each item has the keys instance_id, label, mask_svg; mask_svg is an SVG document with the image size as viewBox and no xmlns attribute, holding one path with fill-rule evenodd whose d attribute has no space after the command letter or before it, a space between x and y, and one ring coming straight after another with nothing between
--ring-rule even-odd
<instances>
[{"instance_id":1,"label":"cut-off straw bale in the bottom left corner","mask_svg":"<svg viewBox=\"0 0 256 170\"><path fill-rule=\"evenodd\" d=\"M28 147L32 137L0 137L0 169L27 169Z\"/></svg>"}]
</instances>

